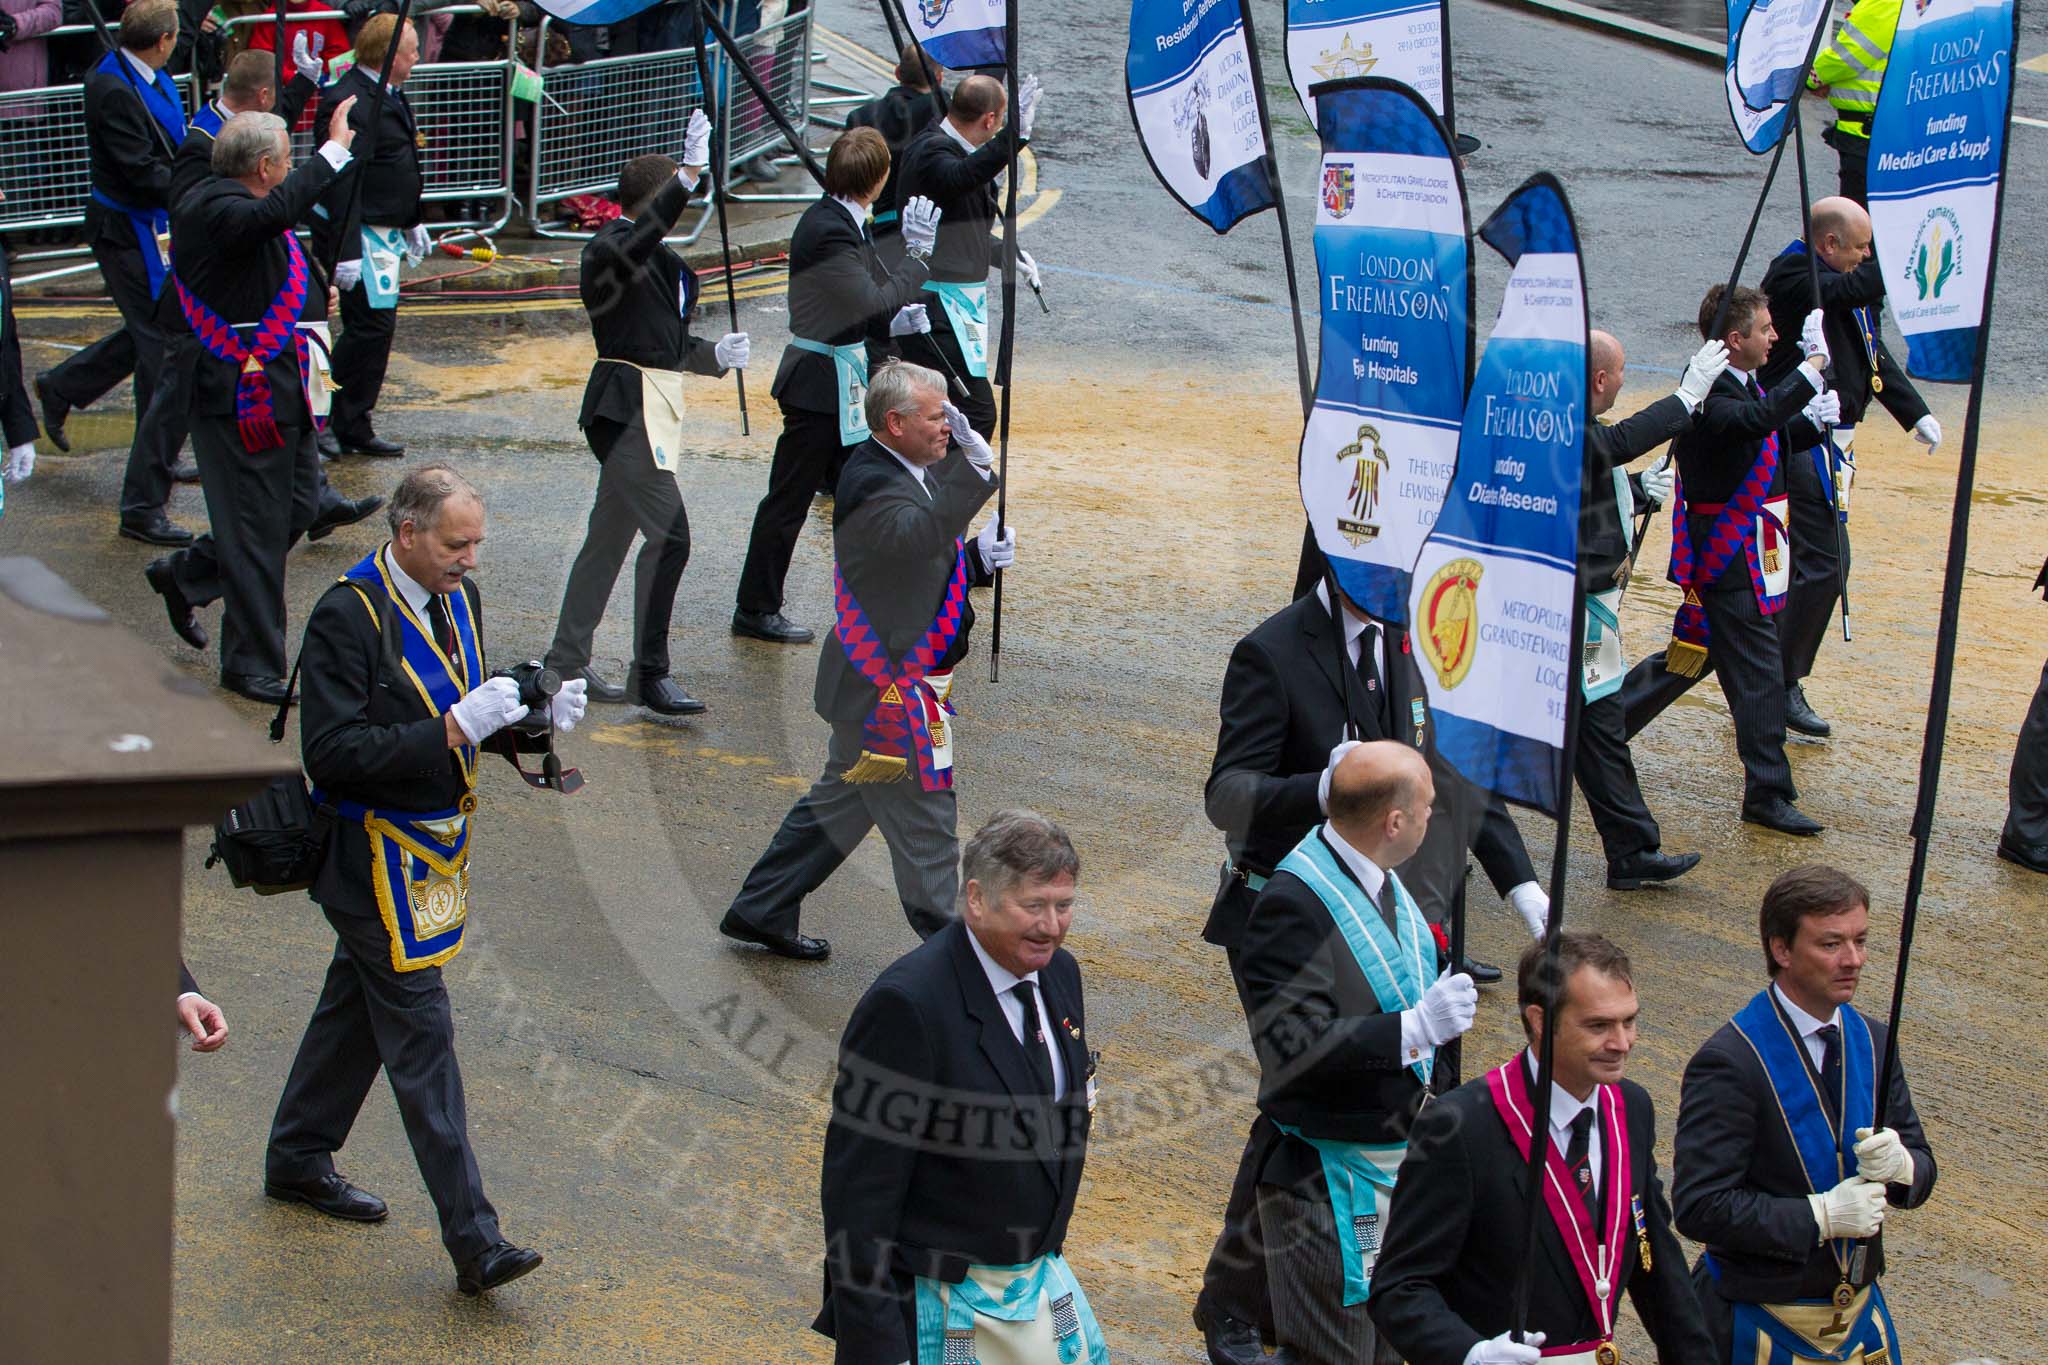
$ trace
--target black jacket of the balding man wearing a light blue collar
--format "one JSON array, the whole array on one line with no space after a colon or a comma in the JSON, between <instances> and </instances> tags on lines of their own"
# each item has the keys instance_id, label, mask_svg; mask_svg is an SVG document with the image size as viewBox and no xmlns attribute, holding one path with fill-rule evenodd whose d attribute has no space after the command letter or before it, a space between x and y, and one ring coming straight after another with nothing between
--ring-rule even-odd
<instances>
[{"instance_id":1,"label":"black jacket of the balding man wearing a light blue collar","mask_svg":"<svg viewBox=\"0 0 2048 1365\"><path fill-rule=\"evenodd\" d=\"M1358 888L1341 857L1337 868ZM1382 898L1391 892L1380 888ZM1425 952L1436 962L1436 945ZM1323 900L1292 872L1274 876L1253 902L1237 943L1237 974L1266 1117L1311 1138L1407 1140L1425 1091L1401 1056L1401 1015L1380 1009ZM1319 1169L1313 1148L1294 1146L1307 1152L1309 1169ZM1290 1175L1268 1179L1284 1185Z\"/></svg>"}]
</instances>

